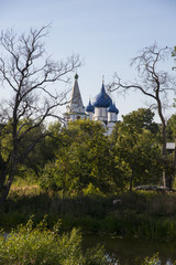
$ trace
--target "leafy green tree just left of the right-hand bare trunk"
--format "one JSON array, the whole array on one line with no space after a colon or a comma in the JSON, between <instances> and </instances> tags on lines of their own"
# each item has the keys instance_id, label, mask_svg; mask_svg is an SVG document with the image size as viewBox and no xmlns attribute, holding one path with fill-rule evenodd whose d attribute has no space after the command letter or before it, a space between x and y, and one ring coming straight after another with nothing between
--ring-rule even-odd
<instances>
[{"instance_id":1,"label":"leafy green tree just left of the right-hand bare trunk","mask_svg":"<svg viewBox=\"0 0 176 265\"><path fill-rule=\"evenodd\" d=\"M129 187L151 184L160 178L160 146L155 137L158 130L148 109L139 109L123 116L113 139L117 157L131 170Z\"/></svg>"}]
</instances>

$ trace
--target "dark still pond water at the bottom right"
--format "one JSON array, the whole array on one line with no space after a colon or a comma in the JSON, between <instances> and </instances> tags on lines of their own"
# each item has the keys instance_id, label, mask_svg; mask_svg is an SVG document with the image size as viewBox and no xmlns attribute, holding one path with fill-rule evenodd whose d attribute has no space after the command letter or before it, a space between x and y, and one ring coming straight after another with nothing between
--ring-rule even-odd
<instances>
[{"instance_id":1,"label":"dark still pond water at the bottom right","mask_svg":"<svg viewBox=\"0 0 176 265\"><path fill-rule=\"evenodd\" d=\"M158 253L162 265L172 265L176 261L176 242L151 242L124 240L100 235L86 235L84 246L92 247L103 244L108 256L116 257L118 265L141 265L146 256Z\"/></svg>"}]
</instances>

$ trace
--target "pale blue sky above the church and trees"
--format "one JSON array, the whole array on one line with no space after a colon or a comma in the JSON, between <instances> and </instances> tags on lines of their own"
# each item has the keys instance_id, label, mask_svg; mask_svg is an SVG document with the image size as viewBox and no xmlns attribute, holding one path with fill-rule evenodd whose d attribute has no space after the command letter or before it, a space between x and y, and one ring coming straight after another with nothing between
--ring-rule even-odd
<instances>
[{"instance_id":1,"label":"pale blue sky above the church and trees","mask_svg":"<svg viewBox=\"0 0 176 265\"><path fill-rule=\"evenodd\" d=\"M155 41L176 45L175 0L1 0L0 29L28 31L52 23L46 50L59 60L75 53L84 59L78 68L84 104L117 72L124 81L135 77L130 60ZM172 72L174 62L165 64ZM172 72L172 74L176 74ZM74 74L73 74L74 82ZM112 94L121 115L145 107L140 93ZM170 103L173 98L170 98ZM167 117L175 110L166 113Z\"/></svg>"}]
</instances>

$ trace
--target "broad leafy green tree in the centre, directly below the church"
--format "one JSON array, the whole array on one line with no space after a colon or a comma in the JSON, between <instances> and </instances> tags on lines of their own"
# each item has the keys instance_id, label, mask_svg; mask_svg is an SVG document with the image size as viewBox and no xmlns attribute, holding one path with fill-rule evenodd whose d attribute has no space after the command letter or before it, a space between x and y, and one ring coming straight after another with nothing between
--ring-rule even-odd
<instances>
[{"instance_id":1,"label":"broad leafy green tree in the centre, directly below the church","mask_svg":"<svg viewBox=\"0 0 176 265\"><path fill-rule=\"evenodd\" d=\"M62 190L64 194L82 193L90 187L102 193L123 188L127 167L117 160L101 123L70 123L63 130L62 142L56 161L45 168L43 187Z\"/></svg>"}]
</instances>

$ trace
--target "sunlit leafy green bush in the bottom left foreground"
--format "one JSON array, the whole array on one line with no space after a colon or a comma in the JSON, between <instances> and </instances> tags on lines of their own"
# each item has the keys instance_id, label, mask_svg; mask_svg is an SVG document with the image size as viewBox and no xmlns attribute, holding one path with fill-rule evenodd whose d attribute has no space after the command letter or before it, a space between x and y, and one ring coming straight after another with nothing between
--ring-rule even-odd
<instances>
[{"instance_id":1,"label":"sunlit leafy green bush in the bottom left foreground","mask_svg":"<svg viewBox=\"0 0 176 265\"><path fill-rule=\"evenodd\" d=\"M13 230L7 239L0 236L0 264L8 265L107 265L100 246L81 250L81 235L76 229L61 235L59 222L47 229L45 219L33 227L32 219L26 225Z\"/></svg>"}]
</instances>

